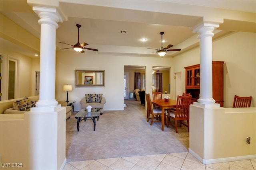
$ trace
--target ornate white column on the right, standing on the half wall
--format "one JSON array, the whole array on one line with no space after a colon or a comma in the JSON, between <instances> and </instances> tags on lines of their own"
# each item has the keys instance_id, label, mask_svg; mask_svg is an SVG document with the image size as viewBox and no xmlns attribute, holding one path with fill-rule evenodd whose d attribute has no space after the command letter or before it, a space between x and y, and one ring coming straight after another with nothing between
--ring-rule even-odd
<instances>
[{"instance_id":1,"label":"ornate white column on the right, standing on the half wall","mask_svg":"<svg viewBox=\"0 0 256 170\"><path fill-rule=\"evenodd\" d=\"M212 98L212 37L219 24L202 23L193 32L199 33L200 40L200 98L197 100L203 107L218 107Z\"/></svg>"}]
</instances>

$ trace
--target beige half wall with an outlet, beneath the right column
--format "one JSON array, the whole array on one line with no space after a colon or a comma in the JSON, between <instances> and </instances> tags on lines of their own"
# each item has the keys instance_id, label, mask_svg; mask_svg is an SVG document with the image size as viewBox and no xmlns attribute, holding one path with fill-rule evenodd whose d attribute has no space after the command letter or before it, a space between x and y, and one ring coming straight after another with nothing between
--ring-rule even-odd
<instances>
[{"instance_id":1,"label":"beige half wall with an outlet, beneath the right column","mask_svg":"<svg viewBox=\"0 0 256 170\"><path fill-rule=\"evenodd\" d=\"M190 105L189 150L204 163L255 158L256 108ZM241 121L246 120L246 121ZM251 143L246 143L251 137Z\"/></svg>"}]
</instances>

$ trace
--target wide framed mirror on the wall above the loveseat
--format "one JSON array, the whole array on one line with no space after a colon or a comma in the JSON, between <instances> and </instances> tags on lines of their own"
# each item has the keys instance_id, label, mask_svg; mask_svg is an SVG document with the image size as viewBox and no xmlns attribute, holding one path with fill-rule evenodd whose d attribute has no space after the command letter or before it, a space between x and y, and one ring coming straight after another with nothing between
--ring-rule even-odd
<instances>
[{"instance_id":1,"label":"wide framed mirror on the wall above the loveseat","mask_svg":"<svg viewBox=\"0 0 256 170\"><path fill-rule=\"evenodd\" d=\"M105 70L75 70L75 87L105 87Z\"/></svg>"}]
</instances>

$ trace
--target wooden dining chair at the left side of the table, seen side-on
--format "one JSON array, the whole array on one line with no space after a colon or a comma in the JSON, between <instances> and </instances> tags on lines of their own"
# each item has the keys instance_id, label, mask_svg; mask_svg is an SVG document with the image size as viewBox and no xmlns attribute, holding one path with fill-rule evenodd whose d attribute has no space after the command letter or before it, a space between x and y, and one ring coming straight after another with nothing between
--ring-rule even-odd
<instances>
[{"instance_id":1,"label":"wooden dining chair at the left side of the table, seen side-on","mask_svg":"<svg viewBox=\"0 0 256 170\"><path fill-rule=\"evenodd\" d=\"M162 122L160 119L154 120L154 118L158 117L158 115L159 116L162 115L162 109L160 109L159 107L154 109L151 99L150 99L150 94L145 94L145 95L146 95L146 102L147 102L147 106L148 106L147 122L149 121L149 119L151 119L150 125L152 125L153 122ZM151 114L151 118L150 118L150 114Z\"/></svg>"}]
</instances>

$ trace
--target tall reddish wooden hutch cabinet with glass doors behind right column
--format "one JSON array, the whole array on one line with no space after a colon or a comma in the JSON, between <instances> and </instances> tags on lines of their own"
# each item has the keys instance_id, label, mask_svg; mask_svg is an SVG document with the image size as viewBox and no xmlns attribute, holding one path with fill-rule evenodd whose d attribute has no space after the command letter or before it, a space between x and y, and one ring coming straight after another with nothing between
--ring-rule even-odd
<instances>
[{"instance_id":1,"label":"tall reddish wooden hutch cabinet with glass doors behind right column","mask_svg":"<svg viewBox=\"0 0 256 170\"><path fill-rule=\"evenodd\" d=\"M223 107L223 64L212 61L212 97ZM197 102L200 93L200 64L184 67L186 70L186 93L192 95L191 102Z\"/></svg>"}]
</instances>

